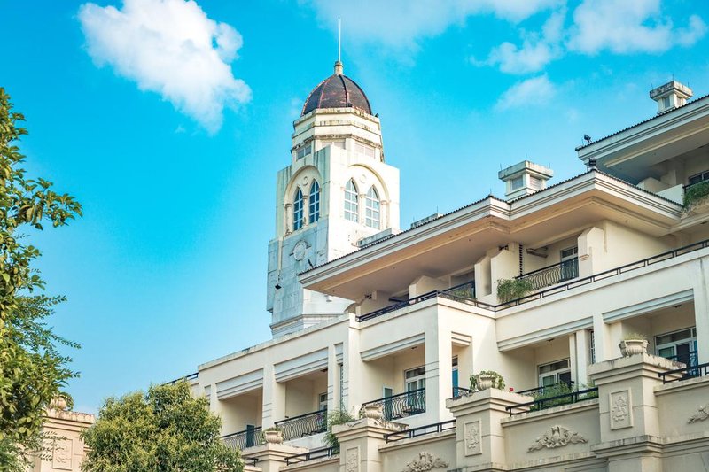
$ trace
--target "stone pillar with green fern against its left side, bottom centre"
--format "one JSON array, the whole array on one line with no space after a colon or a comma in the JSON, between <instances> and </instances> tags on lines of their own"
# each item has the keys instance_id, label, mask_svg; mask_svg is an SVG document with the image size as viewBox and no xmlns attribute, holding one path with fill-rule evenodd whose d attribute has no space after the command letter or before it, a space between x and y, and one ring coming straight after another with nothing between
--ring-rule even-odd
<instances>
[{"instance_id":1,"label":"stone pillar with green fern against its left side, bottom centre","mask_svg":"<svg viewBox=\"0 0 709 472\"><path fill-rule=\"evenodd\" d=\"M384 435L396 423L384 423L370 418L332 428L339 440L339 470L341 472L383 472L379 446L385 445ZM401 429L405 425L400 425Z\"/></svg>"}]
</instances>

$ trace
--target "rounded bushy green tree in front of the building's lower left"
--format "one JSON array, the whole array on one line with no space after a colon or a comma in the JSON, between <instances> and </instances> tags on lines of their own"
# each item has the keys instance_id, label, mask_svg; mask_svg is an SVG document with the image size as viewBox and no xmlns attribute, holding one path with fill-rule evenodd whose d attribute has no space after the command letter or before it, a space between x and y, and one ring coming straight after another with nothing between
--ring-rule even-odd
<instances>
[{"instance_id":1,"label":"rounded bushy green tree in front of the building's lower left","mask_svg":"<svg viewBox=\"0 0 709 472\"><path fill-rule=\"evenodd\" d=\"M233 472L236 450L222 443L222 421L186 382L152 386L147 393L108 398L83 433L90 472Z\"/></svg>"}]
</instances>

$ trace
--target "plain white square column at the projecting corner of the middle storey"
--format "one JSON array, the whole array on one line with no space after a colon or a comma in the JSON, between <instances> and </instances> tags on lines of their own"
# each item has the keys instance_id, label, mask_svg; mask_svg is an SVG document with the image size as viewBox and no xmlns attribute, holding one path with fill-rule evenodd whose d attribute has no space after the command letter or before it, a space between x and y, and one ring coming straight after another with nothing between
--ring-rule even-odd
<instances>
[{"instance_id":1,"label":"plain white square column at the projecting corner of the middle storey","mask_svg":"<svg viewBox=\"0 0 709 472\"><path fill-rule=\"evenodd\" d=\"M440 323L438 324L440 327ZM450 419L446 398L453 396L453 350L450 331L431 328L425 333L426 414L431 422Z\"/></svg>"}]
</instances>

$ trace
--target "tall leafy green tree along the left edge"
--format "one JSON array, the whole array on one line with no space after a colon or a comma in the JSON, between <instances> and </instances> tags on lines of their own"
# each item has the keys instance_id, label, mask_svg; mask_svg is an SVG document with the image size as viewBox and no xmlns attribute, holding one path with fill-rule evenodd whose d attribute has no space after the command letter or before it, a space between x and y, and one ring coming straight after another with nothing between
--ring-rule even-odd
<instances>
[{"instance_id":1,"label":"tall leafy green tree along the left edge","mask_svg":"<svg viewBox=\"0 0 709 472\"><path fill-rule=\"evenodd\" d=\"M55 336L43 319L62 298L30 296L44 282L33 261L40 252L19 233L43 229L44 222L63 226L82 214L82 206L52 183L30 179L17 143L27 134L24 117L12 112L0 88L0 469L19 470L42 445L45 408L63 395L74 375L58 344L76 346Z\"/></svg>"}]
</instances>

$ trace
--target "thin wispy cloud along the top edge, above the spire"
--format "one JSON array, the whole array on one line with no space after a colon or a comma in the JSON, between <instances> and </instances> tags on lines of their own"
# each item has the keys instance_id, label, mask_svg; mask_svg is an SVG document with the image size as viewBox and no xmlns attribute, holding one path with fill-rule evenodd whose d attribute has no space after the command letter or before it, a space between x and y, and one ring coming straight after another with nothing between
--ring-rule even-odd
<instances>
[{"instance_id":1,"label":"thin wispy cloud along the top edge, above the spire","mask_svg":"<svg viewBox=\"0 0 709 472\"><path fill-rule=\"evenodd\" d=\"M492 13L518 22L564 0L301 0L316 11L325 27L343 21L346 41L355 38L393 48L416 48L422 38L439 35L450 25L463 24L474 14Z\"/></svg>"}]
</instances>

